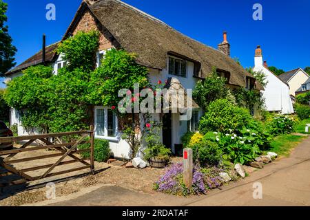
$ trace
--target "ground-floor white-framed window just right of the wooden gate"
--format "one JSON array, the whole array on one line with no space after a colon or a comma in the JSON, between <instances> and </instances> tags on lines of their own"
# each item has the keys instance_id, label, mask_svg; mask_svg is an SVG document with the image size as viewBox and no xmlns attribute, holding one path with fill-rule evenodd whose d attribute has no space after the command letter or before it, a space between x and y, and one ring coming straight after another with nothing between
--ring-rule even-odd
<instances>
[{"instance_id":1,"label":"ground-floor white-framed window just right of the wooden gate","mask_svg":"<svg viewBox=\"0 0 310 220\"><path fill-rule=\"evenodd\" d=\"M107 107L95 107L94 110L96 137L116 138L117 118L114 111Z\"/></svg>"}]
</instances>

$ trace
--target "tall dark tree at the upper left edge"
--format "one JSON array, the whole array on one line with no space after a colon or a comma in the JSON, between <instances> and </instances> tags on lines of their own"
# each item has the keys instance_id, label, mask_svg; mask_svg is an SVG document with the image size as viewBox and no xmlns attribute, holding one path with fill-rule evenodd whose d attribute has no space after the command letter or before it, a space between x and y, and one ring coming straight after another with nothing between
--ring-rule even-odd
<instances>
[{"instance_id":1,"label":"tall dark tree at the upper left edge","mask_svg":"<svg viewBox=\"0 0 310 220\"><path fill-rule=\"evenodd\" d=\"M14 63L14 55L17 49L12 45L12 38L8 34L8 26L4 25L8 21L8 17L6 17L7 10L8 4L0 0L0 77L4 76L16 64Z\"/></svg>"}]
</instances>

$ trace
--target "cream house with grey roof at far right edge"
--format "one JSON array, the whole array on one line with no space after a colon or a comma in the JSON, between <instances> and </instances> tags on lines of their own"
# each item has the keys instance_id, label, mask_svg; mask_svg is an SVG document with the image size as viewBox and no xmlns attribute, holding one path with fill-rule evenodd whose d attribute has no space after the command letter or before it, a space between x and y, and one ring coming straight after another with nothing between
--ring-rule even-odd
<instances>
[{"instance_id":1,"label":"cream house with grey roof at far right edge","mask_svg":"<svg viewBox=\"0 0 310 220\"><path fill-rule=\"evenodd\" d=\"M289 94L296 96L296 91L305 84L304 82L309 79L309 75L302 68L297 68L281 74L279 78L289 84Z\"/></svg>"}]
</instances>

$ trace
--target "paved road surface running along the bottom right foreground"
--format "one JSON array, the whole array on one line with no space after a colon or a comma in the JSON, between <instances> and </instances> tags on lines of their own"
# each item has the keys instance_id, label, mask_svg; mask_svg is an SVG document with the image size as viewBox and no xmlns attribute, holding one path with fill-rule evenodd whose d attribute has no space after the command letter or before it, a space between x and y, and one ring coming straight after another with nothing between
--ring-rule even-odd
<instances>
[{"instance_id":1,"label":"paved road surface running along the bottom right foreground","mask_svg":"<svg viewBox=\"0 0 310 220\"><path fill-rule=\"evenodd\" d=\"M253 184L262 184L262 199ZM38 203L37 205L43 205ZM45 204L48 205L48 204ZM310 206L310 137L289 158L279 159L241 181L200 197L148 195L118 186L102 186L78 197L59 198L52 206Z\"/></svg>"}]
</instances>

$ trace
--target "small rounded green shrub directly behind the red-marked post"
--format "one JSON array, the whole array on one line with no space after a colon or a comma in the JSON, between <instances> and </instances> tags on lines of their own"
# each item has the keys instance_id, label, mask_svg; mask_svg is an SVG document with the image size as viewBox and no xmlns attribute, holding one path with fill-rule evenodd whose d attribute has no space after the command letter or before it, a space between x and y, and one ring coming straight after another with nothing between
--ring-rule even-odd
<instances>
[{"instance_id":1,"label":"small rounded green shrub directly behind the red-marked post","mask_svg":"<svg viewBox=\"0 0 310 220\"><path fill-rule=\"evenodd\" d=\"M203 139L189 147L193 149L194 161L200 166L216 166L220 162L222 151L216 142Z\"/></svg>"}]
</instances>

